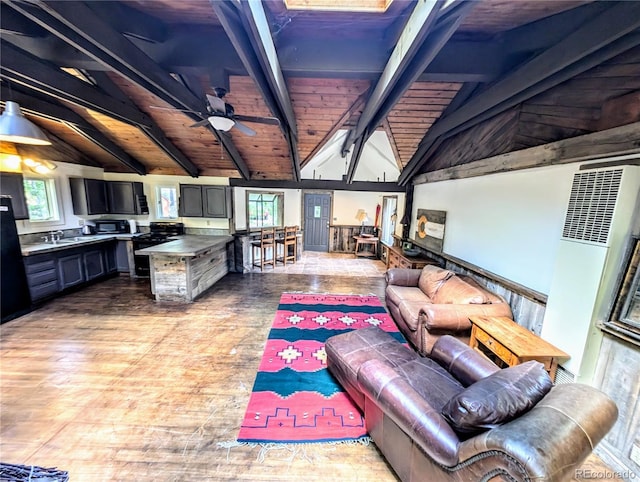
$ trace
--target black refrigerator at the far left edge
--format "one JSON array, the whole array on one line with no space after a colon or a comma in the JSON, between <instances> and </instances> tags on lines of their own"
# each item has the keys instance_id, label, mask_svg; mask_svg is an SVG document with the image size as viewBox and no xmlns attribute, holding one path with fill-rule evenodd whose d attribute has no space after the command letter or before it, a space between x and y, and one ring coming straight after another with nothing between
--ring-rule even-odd
<instances>
[{"instance_id":1,"label":"black refrigerator at the far left edge","mask_svg":"<svg viewBox=\"0 0 640 482\"><path fill-rule=\"evenodd\" d=\"M0 245L2 247L0 304L2 305L2 323L4 323L31 310L27 274L9 196L0 196Z\"/></svg>"}]
</instances>

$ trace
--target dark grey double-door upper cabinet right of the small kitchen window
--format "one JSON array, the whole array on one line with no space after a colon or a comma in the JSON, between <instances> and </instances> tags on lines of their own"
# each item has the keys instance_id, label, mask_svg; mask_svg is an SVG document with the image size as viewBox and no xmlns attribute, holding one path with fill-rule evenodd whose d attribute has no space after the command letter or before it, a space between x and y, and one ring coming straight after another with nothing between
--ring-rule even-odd
<instances>
[{"instance_id":1,"label":"dark grey double-door upper cabinet right of the small kitchen window","mask_svg":"<svg viewBox=\"0 0 640 482\"><path fill-rule=\"evenodd\" d=\"M198 218L228 218L231 189L227 186L180 184L180 215Z\"/></svg>"}]
</instances>

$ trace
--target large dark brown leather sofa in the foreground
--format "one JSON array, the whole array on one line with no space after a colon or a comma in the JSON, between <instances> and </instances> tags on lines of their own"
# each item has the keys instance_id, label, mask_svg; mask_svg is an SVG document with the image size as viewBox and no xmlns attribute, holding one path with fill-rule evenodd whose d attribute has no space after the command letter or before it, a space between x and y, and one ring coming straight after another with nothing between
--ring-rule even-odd
<instances>
[{"instance_id":1,"label":"large dark brown leather sofa in the foreground","mask_svg":"<svg viewBox=\"0 0 640 482\"><path fill-rule=\"evenodd\" d=\"M617 418L591 386L553 386L535 361L501 370L451 336L430 358L376 327L325 350L402 481L569 481Z\"/></svg>"}]
</instances>

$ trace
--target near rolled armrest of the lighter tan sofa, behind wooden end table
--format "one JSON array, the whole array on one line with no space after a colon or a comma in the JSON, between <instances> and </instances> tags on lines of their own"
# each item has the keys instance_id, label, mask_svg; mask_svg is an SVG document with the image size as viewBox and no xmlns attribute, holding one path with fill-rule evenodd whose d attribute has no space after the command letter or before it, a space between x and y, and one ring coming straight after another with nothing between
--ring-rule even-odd
<instances>
[{"instance_id":1,"label":"near rolled armrest of the lighter tan sofa, behind wooden end table","mask_svg":"<svg viewBox=\"0 0 640 482\"><path fill-rule=\"evenodd\" d=\"M428 331L465 331L471 328L470 316L506 316L511 308L506 303L488 304L425 304L420 308L419 323Z\"/></svg>"}]
</instances>

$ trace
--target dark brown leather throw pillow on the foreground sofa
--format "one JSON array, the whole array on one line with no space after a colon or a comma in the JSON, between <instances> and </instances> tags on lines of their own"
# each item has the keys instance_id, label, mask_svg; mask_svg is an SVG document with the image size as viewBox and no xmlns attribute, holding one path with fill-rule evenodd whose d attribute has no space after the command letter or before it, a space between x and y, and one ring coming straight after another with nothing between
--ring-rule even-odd
<instances>
[{"instance_id":1,"label":"dark brown leather throw pillow on the foreground sofa","mask_svg":"<svg viewBox=\"0 0 640 482\"><path fill-rule=\"evenodd\" d=\"M552 386L542 363L528 361L470 385L445 404L442 415L456 432L475 434L527 412Z\"/></svg>"}]
</instances>

